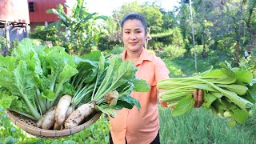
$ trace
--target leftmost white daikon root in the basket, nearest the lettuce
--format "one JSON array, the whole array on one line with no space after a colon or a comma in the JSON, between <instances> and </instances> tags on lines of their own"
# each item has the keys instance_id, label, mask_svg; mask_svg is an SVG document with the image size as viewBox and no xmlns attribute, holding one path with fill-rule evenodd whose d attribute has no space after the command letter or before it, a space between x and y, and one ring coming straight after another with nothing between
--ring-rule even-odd
<instances>
[{"instance_id":1,"label":"leftmost white daikon root in the basket, nearest the lettuce","mask_svg":"<svg viewBox=\"0 0 256 144\"><path fill-rule=\"evenodd\" d=\"M46 113L45 118L42 121L42 129L49 130L52 126L54 126L55 110L56 110L56 106L54 106L54 108L52 110L49 110Z\"/></svg>"}]
</instances>

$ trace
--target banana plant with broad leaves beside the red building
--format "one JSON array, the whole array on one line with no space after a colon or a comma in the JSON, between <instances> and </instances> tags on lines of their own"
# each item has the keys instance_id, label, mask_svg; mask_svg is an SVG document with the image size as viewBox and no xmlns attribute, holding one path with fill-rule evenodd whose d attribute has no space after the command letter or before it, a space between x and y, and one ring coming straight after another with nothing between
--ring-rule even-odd
<instances>
[{"instance_id":1,"label":"banana plant with broad leaves beside the red building","mask_svg":"<svg viewBox=\"0 0 256 144\"><path fill-rule=\"evenodd\" d=\"M71 6L65 3L66 9L71 14L66 14L64 6L59 4L57 9L46 10L48 14L56 14L59 21L51 23L59 29L61 26L66 27L66 39L69 42L68 49L70 54L82 55L89 53L93 46L98 45L98 40L102 35L108 34L104 23L98 24L97 20L107 20L106 16L97 13L86 12L84 0L78 0L76 4Z\"/></svg>"}]
</instances>

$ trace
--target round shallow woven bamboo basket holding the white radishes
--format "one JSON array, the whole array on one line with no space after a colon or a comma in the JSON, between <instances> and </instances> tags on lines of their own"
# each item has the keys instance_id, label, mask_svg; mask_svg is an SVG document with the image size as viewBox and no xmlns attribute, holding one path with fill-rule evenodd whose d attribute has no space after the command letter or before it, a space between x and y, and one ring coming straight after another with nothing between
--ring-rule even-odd
<instances>
[{"instance_id":1,"label":"round shallow woven bamboo basket holding the white radishes","mask_svg":"<svg viewBox=\"0 0 256 144\"><path fill-rule=\"evenodd\" d=\"M20 114L11 112L10 110L6 110L6 114L8 118L10 118L10 121L13 122L16 126L21 128L22 130L25 130L27 133L34 135L35 137L61 138L61 137L69 136L71 134L78 133L79 131L86 129L86 127L92 125L94 122L98 120L102 112L94 113L88 121L82 123L79 126L76 126L71 129L63 129L63 130L44 130L44 129L38 128L36 126L36 122L31 120L30 118L26 118Z\"/></svg>"}]
</instances>

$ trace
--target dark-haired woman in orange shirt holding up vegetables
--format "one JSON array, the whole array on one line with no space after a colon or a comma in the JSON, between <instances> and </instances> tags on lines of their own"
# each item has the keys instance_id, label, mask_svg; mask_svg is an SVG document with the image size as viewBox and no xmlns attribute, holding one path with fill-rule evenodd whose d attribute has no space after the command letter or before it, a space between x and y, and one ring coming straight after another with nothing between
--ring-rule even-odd
<instances>
[{"instance_id":1,"label":"dark-haired woman in orange shirt holding up vegetables","mask_svg":"<svg viewBox=\"0 0 256 144\"><path fill-rule=\"evenodd\" d=\"M117 110L116 118L110 118L110 143L160 143L157 82L169 78L169 70L161 58L150 55L144 49L146 21L142 15L128 14L123 18L122 42L125 46L122 59L134 63L138 68L136 77L146 80L150 84L150 91L130 94L140 102L140 110L136 106L131 110ZM201 106L202 96L195 93L194 99L197 101L198 98L200 100L196 103ZM166 106L166 103L161 104Z\"/></svg>"}]
</instances>

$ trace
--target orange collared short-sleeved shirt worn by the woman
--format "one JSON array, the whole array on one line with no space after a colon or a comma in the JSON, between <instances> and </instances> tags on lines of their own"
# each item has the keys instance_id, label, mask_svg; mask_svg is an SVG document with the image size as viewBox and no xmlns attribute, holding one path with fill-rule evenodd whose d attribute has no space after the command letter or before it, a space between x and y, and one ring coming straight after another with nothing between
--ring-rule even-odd
<instances>
[{"instance_id":1,"label":"orange collared short-sleeved shirt worn by the woman","mask_svg":"<svg viewBox=\"0 0 256 144\"><path fill-rule=\"evenodd\" d=\"M127 50L121 54L125 60ZM157 82L162 78L169 78L169 70L161 58L150 55L142 50L138 61L137 78L142 78L150 84L150 91L146 93L132 92L131 97L138 99L141 109L116 110L115 118L110 118L110 132L114 144L148 144L154 140L159 130ZM162 104L164 106L165 104ZM126 138L126 139L125 139Z\"/></svg>"}]
</instances>

